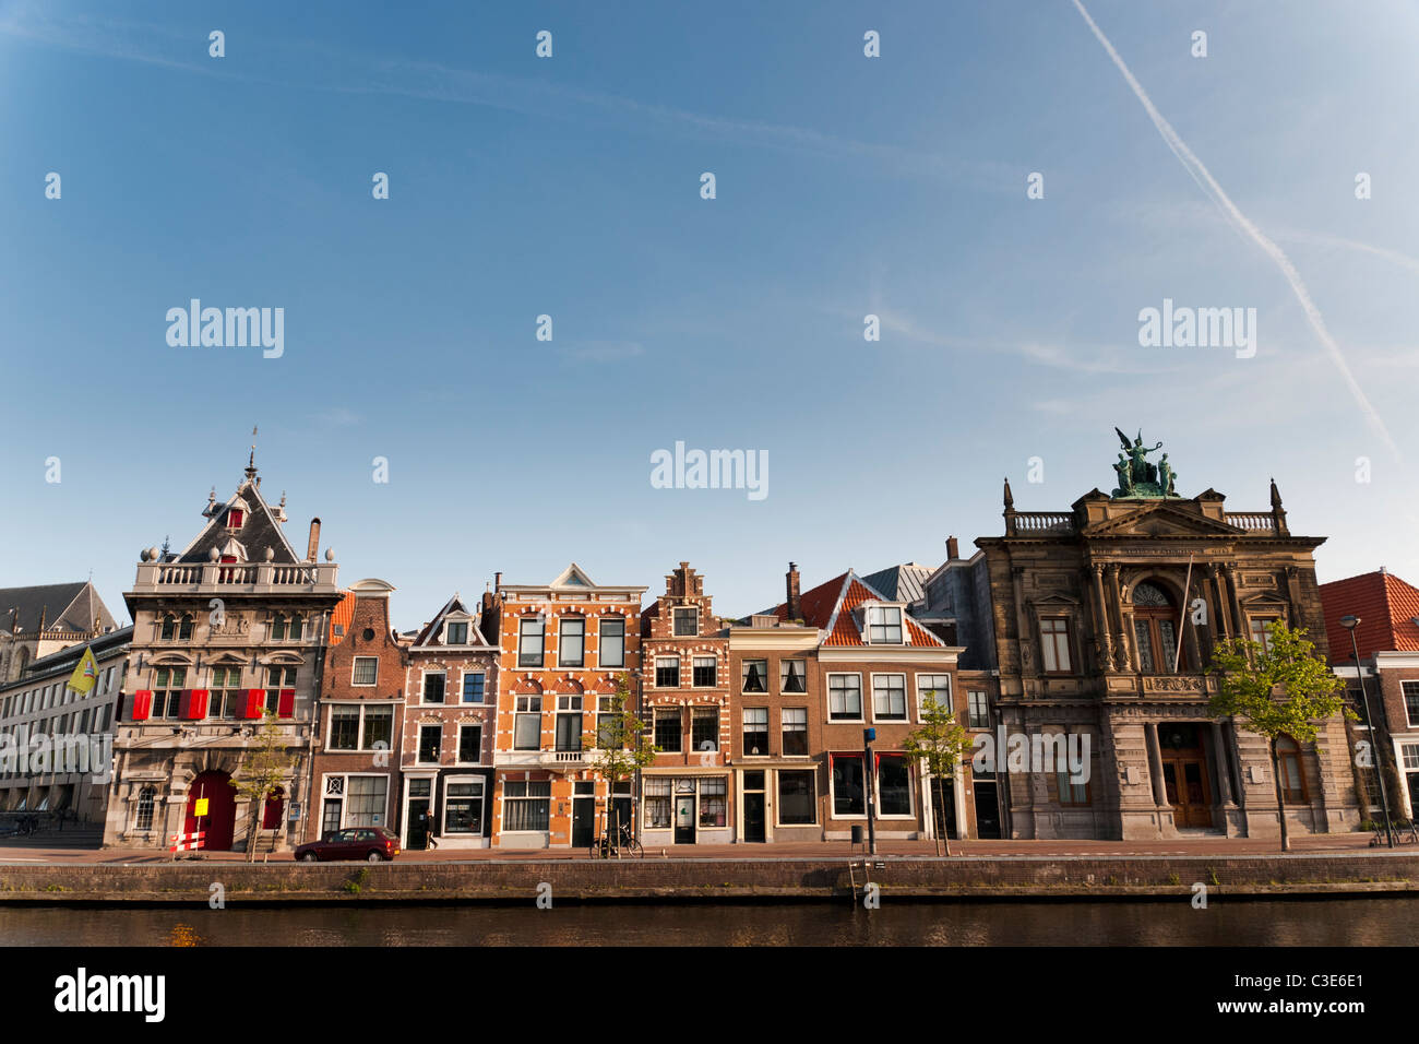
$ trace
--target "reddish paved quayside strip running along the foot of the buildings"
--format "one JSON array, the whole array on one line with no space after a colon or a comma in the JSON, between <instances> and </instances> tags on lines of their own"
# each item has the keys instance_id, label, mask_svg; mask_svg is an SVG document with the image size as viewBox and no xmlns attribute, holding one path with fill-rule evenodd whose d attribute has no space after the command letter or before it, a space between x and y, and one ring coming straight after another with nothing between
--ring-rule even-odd
<instances>
[{"instance_id":1,"label":"reddish paved quayside strip running along the foot of the buildings","mask_svg":"<svg viewBox=\"0 0 1419 1044\"><path fill-rule=\"evenodd\" d=\"M1354 834L1314 834L1291 837L1291 854L1320 855L1324 852L1357 854L1369 848L1369 831ZM1376 854L1386 848L1372 849ZM1413 845L1396 847L1395 852L1419 854ZM935 857L931 841L883 841L877 845L878 857ZM1171 841L952 841L952 857L993 858L1130 858L1149 855L1281 855L1280 841L1274 838L1223 838L1186 837ZM190 858L190 852L179 852L179 858ZM847 841L809 841L765 845L667 845L646 849L647 859L847 859L861 858L861 847L853 848ZM75 864L155 864L170 861L167 852L152 848L71 848L47 845L43 838L0 841L0 865L48 862L55 865ZM213 862L243 862L245 852L203 852L201 858ZM450 848L447 844L434 851L400 852L396 862L482 862L482 861L543 861L543 859L587 859L585 848ZM291 852L258 854L257 862L291 862Z\"/></svg>"}]
</instances>

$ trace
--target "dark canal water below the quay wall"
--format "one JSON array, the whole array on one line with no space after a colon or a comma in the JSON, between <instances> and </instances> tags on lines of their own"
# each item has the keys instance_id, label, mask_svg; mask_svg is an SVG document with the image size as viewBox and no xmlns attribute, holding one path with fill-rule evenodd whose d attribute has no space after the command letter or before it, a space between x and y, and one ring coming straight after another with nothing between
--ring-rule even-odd
<instances>
[{"instance_id":1,"label":"dark canal water below the quay wall","mask_svg":"<svg viewBox=\"0 0 1419 1044\"><path fill-rule=\"evenodd\" d=\"M3 946L1410 946L1419 898L1246 902L0 908Z\"/></svg>"}]
</instances>

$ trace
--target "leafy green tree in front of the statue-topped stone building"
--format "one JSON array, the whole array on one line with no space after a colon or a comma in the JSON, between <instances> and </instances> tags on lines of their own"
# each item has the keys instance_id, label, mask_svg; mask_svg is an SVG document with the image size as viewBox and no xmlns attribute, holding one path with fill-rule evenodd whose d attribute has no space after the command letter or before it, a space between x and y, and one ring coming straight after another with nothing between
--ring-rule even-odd
<instances>
[{"instance_id":1,"label":"leafy green tree in front of the statue-topped stone building","mask_svg":"<svg viewBox=\"0 0 1419 1044\"><path fill-rule=\"evenodd\" d=\"M1218 676L1220 692L1208 705L1218 717L1239 717L1247 732L1264 736L1271 753L1277 817L1281 822L1281 851L1291 847L1286 830L1286 801L1281 794L1281 764L1276 753L1280 736L1297 743L1314 743L1320 723L1344 712L1342 679L1315 655L1305 631L1291 631L1284 621L1266 628L1267 642L1232 638L1216 643L1209 673Z\"/></svg>"}]
</instances>

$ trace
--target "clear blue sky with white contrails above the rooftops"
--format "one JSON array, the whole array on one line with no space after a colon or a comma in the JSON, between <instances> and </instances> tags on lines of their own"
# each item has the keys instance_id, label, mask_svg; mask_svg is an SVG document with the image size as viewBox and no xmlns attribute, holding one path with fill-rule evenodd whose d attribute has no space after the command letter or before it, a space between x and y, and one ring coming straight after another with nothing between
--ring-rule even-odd
<instances>
[{"instance_id":1,"label":"clear blue sky with white contrails above the rooftops","mask_svg":"<svg viewBox=\"0 0 1419 1044\"><path fill-rule=\"evenodd\" d=\"M1107 491L1114 425L1232 510L1274 474L1323 581L1419 581L1419 11L1086 6L1368 408L1066 0L0 0L0 585L92 568L122 616L253 425L292 543L319 516L400 626L572 560L648 597L690 560L735 615L789 560L935 564L1003 476ZM284 355L169 347L193 297L282 307ZM1256 357L1139 347L1165 297L1256 308ZM768 497L653 489L677 440L766 450Z\"/></svg>"}]
</instances>

